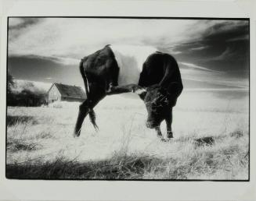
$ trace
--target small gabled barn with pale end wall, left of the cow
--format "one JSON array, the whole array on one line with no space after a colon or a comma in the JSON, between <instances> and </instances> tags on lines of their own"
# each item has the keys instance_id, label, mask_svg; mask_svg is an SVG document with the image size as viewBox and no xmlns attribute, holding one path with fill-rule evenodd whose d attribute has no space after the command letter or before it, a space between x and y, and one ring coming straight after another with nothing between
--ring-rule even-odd
<instances>
[{"instance_id":1,"label":"small gabled barn with pale end wall, left of the cow","mask_svg":"<svg viewBox=\"0 0 256 201\"><path fill-rule=\"evenodd\" d=\"M85 91L80 86L70 86L62 83L53 83L47 95L48 103L56 100L82 102L86 99Z\"/></svg>"}]
</instances>

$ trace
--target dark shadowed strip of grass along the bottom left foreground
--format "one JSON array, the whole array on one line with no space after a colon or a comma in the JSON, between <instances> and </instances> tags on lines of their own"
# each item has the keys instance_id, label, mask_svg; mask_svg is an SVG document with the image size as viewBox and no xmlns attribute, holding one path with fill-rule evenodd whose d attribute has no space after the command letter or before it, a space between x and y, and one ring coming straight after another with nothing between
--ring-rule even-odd
<instances>
[{"instance_id":1,"label":"dark shadowed strip of grass along the bottom left foreground","mask_svg":"<svg viewBox=\"0 0 256 201\"><path fill-rule=\"evenodd\" d=\"M154 157L125 157L78 162L56 159L40 163L27 161L6 164L6 178L16 179L142 179L150 165L160 163Z\"/></svg>"}]
</instances>

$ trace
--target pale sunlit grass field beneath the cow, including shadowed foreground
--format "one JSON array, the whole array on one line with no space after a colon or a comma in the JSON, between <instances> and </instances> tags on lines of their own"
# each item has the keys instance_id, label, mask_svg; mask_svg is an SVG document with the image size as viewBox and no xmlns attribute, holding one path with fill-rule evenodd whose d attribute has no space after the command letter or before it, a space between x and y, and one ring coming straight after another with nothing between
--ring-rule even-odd
<instances>
[{"instance_id":1,"label":"pale sunlit grass field beneath the cow, including shadowed foreground","mask_svg":"<svg viewBox=\"0 0 256 201\"><path fill-rule=\"evenodd\" d=\"M182 93L168 142L146 129L139 98L106 97L95 110L99 132L86 118L79 138L72 136L77 103L9 107L6 177L247 180L248 99L242 97Z\"/></svg>"}]
</instances>

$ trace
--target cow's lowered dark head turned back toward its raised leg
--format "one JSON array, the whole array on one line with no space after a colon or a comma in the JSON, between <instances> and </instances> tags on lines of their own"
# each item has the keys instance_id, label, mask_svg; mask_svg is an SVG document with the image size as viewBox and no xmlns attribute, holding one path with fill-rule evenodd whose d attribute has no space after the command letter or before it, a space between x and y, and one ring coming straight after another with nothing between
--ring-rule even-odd
<instances>
[{"instance_id":1,"label":"cow's lowered dark head turned back toward its raised leg","mask_svg":"<svg viewBox=\"0 0 256 201\"><path fill-rule=\"evenodd\" d=\"M148 118L146 126L150 129L160 126L160 123L170 112L170 104L167 97L167 90L161 86L154 85L139 92L139 97L146 104Z\"/></svg>"}]
</instances>

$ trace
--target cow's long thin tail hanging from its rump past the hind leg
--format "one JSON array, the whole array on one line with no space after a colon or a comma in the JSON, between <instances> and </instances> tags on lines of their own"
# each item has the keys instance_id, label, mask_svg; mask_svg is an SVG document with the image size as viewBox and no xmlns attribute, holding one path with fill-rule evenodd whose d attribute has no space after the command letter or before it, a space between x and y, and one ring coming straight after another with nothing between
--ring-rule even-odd
<instances>
[{"instance_id":1,"label":"cow's long thin tail hanging from its rump past the hind leg","mask_svg":"<svg viewBox=\"0 0 256 201\"><path fill-rule=\"evenodd\" d=\"M96 113L93 110L92 105L91 105L92 100L90 100L90 89L89 89L89 85L88 85L88 79L87 79L87 76L85 74L85 70L83 68L83 63L85 61L86 61L86 58L81 60L80 65L79 65L79 69L80 69L81 76L82 76L82 78L84 80L84 83L85 83L85 93L86 93L86 98L88 100L88 115L89 115L90 121L92 122L92 125L94 126L94 128L96 130L98 130L99 127L96 124Z\"/></svg>"}]
</instances>

